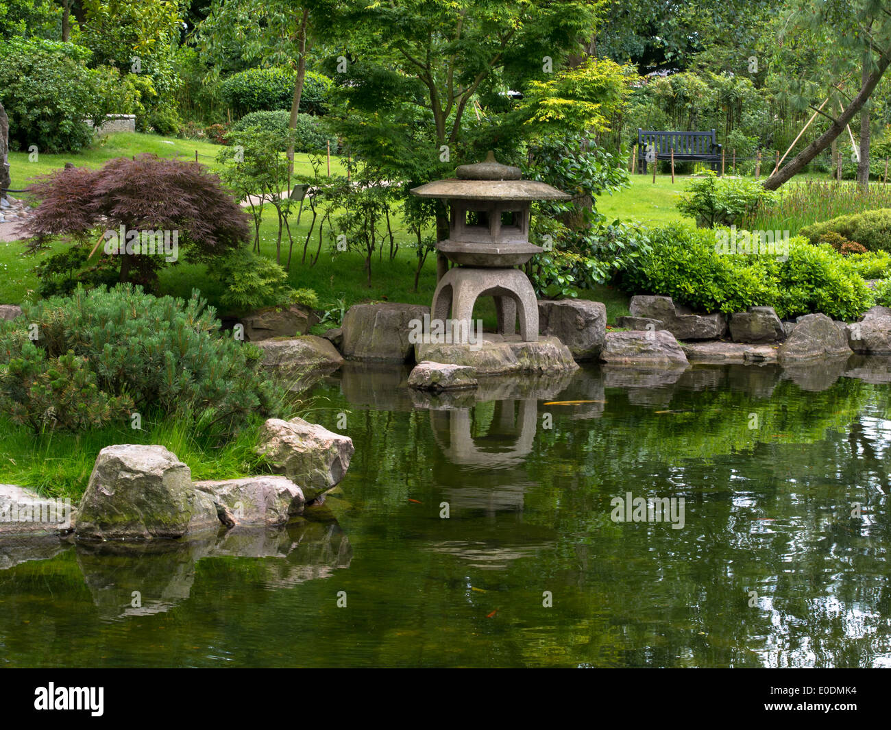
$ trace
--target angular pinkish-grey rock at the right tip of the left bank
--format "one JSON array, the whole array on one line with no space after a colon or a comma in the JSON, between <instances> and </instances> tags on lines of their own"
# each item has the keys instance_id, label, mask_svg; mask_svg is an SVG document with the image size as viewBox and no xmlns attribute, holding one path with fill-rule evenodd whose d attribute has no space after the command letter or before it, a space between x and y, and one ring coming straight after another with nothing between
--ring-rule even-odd
<instances>
[{"instance_id":1,"label":"angular pinkish-grey rock at the right tip of the left bank","mask_svg":"<svg viewBox=\"0 0 891 730\"><path fill-rule=\"evenodd\" d=\"M302 418L270 418L257 447L275 472L299 485L307 502L337 486L354 450L353 439Z\"/></svg>"}]
</instances>

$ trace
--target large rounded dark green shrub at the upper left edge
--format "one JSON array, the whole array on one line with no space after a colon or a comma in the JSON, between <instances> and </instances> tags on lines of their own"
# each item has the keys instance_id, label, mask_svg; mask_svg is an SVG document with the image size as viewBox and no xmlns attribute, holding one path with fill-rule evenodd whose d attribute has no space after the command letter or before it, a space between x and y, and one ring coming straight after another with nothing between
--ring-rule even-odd
<instances>
[{"instance_id":1,"label":"large rounded dark green shrub at the upper left edge","mask_svg":"<svg viewBox=\"0 0 891 730\"><path fill-rule=\"evenodd\" d=\"M101 113L90 52L74 44L12 38L0 44L0 102L12 149L77 152L93 139L84 119Z\"/></svg>"}]
</instances>

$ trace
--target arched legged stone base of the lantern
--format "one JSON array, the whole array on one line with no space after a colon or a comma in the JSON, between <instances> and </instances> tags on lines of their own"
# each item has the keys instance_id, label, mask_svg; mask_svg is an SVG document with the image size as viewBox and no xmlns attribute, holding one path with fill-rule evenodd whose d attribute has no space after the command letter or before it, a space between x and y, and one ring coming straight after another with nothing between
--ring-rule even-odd
<instances>
[{"instance_id":1,"label":"arched legged stone base of the lantern","mask_svg":"<svg viewBox=\"0 0 891 730\"><path fill-rule=\"evenodd\" d=\"M473 305L480 297L493 297L498 315L498 333L517 331L524 342L538 340L538 301L527 276L519 268L457 267L440 279L433 294L431 319L470 322Z\"/></svg>"}]
</instances>

